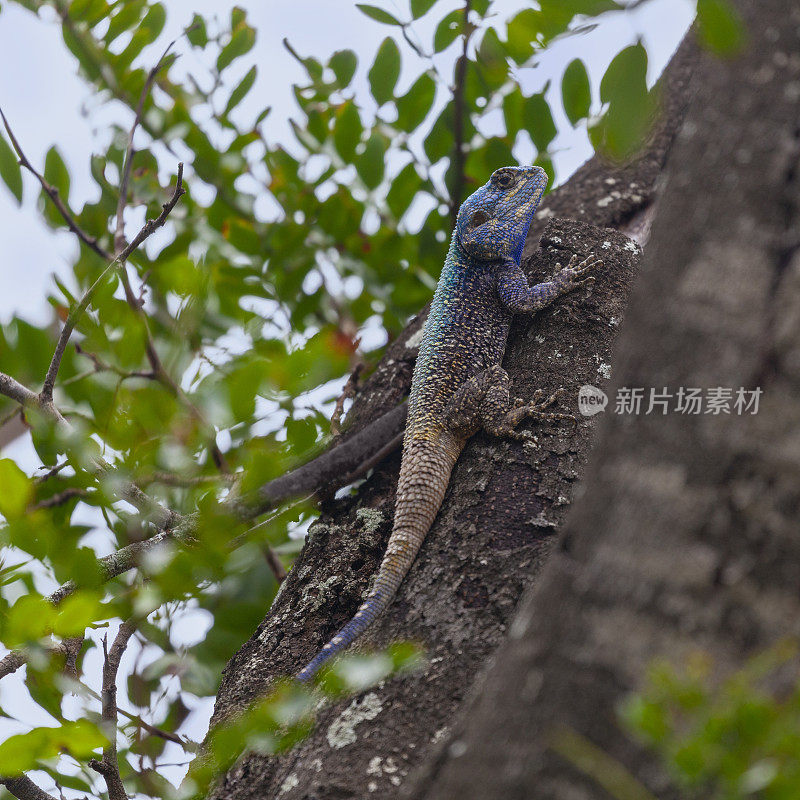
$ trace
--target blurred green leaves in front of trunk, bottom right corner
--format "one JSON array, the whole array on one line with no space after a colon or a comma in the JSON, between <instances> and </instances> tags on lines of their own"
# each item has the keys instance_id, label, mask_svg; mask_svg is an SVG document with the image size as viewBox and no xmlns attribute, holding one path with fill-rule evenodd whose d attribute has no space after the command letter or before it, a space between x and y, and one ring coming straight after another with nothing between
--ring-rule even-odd
<instances>
[{"instance_id":1,"label":"blurred green leaves in front of trunk, bottom right corner","mask_svg":"<svg viewBox=\"0 0 800 800\"><path fill-rule=\"evenodd\" d=\"M654 664L623 719L678 785L709 800L788 800L800 786L797 647L782 642L722 680L697 656Z\"/></svg>"}]
</instances>

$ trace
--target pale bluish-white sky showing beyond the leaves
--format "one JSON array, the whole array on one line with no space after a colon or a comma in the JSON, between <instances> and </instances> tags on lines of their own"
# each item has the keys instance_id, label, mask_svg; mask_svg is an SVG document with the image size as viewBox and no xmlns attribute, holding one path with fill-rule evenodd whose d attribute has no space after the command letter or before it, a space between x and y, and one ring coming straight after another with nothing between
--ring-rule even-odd
<instances>
[{"instance_id":1,"label":"pale bluish-white sky showing beyond the leaves","mask_svg":"<svg viewBox=\"0 0 800 800\"><path fill-rule=\"evenodd\" d=\"M380 4L381 0L373 0ZM164 43L176 37L189 23L193 13L218 14L227 19L234 5L226 0L166 0L167 27L162 41L147 48L141 62L155 63ZM395 31L380 25L362 13L352 2L331 0L239 0L236 5L248 10L250 22L258 30L255 49L241 60L241 65L231 69L229 80L233 83L252 63L259 68L259 78L241 113L257 113L265 105L273 107L265 125L272 141L291 143L289 118L296 113L291 86L303 80L300 66L292 59L282 44L288 37L297 51L314 55L321 60L334 51L351 48L360 57L354 87L359 99L368 95L366 73L380 41ZM435 12L415 24L420 39L429 43L435 21L441 19L455 0L440 0ZM505 19L518 9L528 6L522 0L496 0L493 8ZM405 0L388 0L383 7L407 18ZM599 80L613 56L624 46L641 38L650 56L649 81L660 74L670 55L686 31L693 14L691 0L649 0L634 11L625 14L607 14L596 29L581 37L567 37L548 48L539 65L518 71L520 83L526 91L540 91L548 80L552 82L548 99L559 129L566 130L556 139L554 163L557 181L563 182L591 155L585 130L573 131L566 123L558 99L560 77L567 63L580 57L587 64L593 81L595 96ZM438 58L445 73L450 72L456 47L451 47ZM176 47L181 58L176 70L202 72L203 64L185 43ZM403 92L419 73L418 64L406 57L398 91ZM175 73L180 74L180 72ZM248 106L249 102L249 106ZM368 100L365 101L369 105ZM131 115L119 105L98 106L90 90L77 75L74 59L61 40L54 15L37 18L13 2L4 2L0 11L0 106L22 143L28 158L43 165L44 156L52 144L57 144L72 175L70 200L80 207L92 196L88 174L89 157L106 142L106 128L110 121L120 121L128 126ZM491 121L489 121L491 124ZM486 133L491 133L486 130ZM137 145L146 141L137 140ZM171 168L165 165L165 168ZM46 296L53 287L53 273L68 277L71 258L76 245L70 234L53 233L40 220L37 210L38 185L32 176L25 176L25 197L18 207L11 194L0 185L0 324L13 315L44 324L49 321ZM2 353L0 352L0 370ZM15 458L25 469L38 466L29 443L18 440L3 453ZM45 588L45 587L43 587ZM174 631L176 641L190 643L204 632L204 622L184 618ZM135 656L135 648L126 655L126 662ZM94 659L94 660L92 660ZM123 664L123 673L124 673ZM86 679L99 676L100 661L97 651L86 664ZM96 682L95 682L96 683ZM99 689L95 685L93 688ZM19 675L3 681L3 705L18 719L32 724L48 724L47 717L37 716L36 706L30 701ZM186 733L202 740L211 713L211 703L205 703L190 717ZM0 740L5 735L23 728L0 720ZM180 780L182 770L173 770L169 777ZM45 786L45 788L48 788Z\"/></svg>"}]
</instances>

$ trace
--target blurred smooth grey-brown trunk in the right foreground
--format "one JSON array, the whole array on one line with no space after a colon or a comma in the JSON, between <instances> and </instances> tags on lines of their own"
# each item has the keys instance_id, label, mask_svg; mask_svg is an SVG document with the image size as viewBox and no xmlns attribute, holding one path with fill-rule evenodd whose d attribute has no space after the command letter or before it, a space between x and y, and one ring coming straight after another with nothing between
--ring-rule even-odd
<instances>
[{"instance_id":1,"label":"blurred smooth grey-brown trunk in the right foreground","mask_svg":"<svg viewBox=\"0 0 800 800\"><path fill-rule=\"evenodd\" d=\"M764 390L757 415L606 416L560 547L415 798L607 800L566 725L675 796L615 708L656 657L719 674L800 634L800 9L740 2L705 56L614 361L627 387Z\"/></svg>"}]
</instances>

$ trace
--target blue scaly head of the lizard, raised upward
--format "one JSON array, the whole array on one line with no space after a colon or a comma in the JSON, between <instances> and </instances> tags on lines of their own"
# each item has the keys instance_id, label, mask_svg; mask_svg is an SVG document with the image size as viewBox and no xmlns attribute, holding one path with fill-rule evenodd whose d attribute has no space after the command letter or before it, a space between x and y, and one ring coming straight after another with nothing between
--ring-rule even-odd
<instances>
[{"instance_id":1,"label":"blue scaly head of the lizard, raised upward","mask_svg":"<svg viewBox=\"0 0 800 800\"><path fill-rule=\"evenodd\" d=\"M454 236L481 261L519 263L528 228L547 186L541 167L501 167L458 211Z\"/></svg>"}]
</instances>

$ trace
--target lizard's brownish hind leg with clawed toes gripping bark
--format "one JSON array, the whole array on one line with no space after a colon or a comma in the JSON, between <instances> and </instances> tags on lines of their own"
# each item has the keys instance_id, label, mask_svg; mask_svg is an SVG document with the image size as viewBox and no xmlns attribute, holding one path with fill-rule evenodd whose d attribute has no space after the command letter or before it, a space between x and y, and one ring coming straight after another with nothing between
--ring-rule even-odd
<instances>
[{"instance_id":1,"label":"lizard's brownish hind leg with clawed toes gripping bark","mask_svg":"<svg viewBox=\"0 0 800 800\"><path fill-rule=\"evenodd\" d=\"M450 401L446 419L456 436L467 438L480 428L493 436L530 441L530 431L518 431L517 426L525 419L537 422L559 422L568 420L577 425L571 414L547 409L566 392L559 389L549 397L538 389L531 402L511 399L511 379L499 365L489 367L470 378Z\"/></svg>"}]
</instances>

